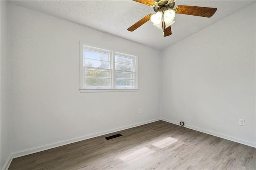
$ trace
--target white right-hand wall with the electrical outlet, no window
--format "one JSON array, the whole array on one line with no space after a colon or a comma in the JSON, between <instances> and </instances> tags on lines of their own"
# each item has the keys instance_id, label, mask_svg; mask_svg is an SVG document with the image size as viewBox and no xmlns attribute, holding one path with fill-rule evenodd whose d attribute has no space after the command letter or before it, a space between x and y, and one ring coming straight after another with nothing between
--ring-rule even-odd
<instances>
[{"instance_id":1,"label":"white right-hand wall with the electrical outlet, no window","mask_svg":"<svg viewBox=\"0 0 256 170\"><path fill-rule=\"evenodd\" d=\"M255 16L254 3L162 51L163 119L255 147Z\"/></svg>"}]
</instances>

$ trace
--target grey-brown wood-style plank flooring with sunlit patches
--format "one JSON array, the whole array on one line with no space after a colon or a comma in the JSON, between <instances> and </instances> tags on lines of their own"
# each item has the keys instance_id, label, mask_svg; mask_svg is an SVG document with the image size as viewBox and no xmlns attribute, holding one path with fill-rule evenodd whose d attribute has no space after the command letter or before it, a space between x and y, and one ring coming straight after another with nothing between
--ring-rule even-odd
<instances>
[{"instance_id":1,"label":"grey-brown wood-style plank flooring with sunlit patches","mask_svg":"<svg viewBox=\"0 0 256 170\"><path fill-rule=\"evenodd\" d=\"M256 170L256 148L164 121L113 134L14 158L9 170Z\"/></svg>"}]
</instances>

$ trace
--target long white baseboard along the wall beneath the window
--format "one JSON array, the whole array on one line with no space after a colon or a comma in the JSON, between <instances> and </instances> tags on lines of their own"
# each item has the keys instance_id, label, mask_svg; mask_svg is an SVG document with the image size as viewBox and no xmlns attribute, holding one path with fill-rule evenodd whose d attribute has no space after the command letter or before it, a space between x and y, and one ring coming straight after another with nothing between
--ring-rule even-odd
<instances>
[{"instance_id":1,"label":"long white baseboard along the wall beneath the window","mask_svg":"<svg viewBox=\"0 0 256 170\"><path fill-rule=\"evenodd\" d=\"M21 151L18 151L18 152L13 152L12 153L12 158L18 158L20 156L25 156L25 155L33 154L33 153L36 153L36 152L41 152L43 150L48 150L48 149L51 149L51 148L56 148L58 146L63 146L63 145L66 145L66 144L71 144L71 143L74 143L74 142L79 142L81 140L86 140L86 139L94 138L94 137L97 137L97 136L101 136L101 135L104 135L104 134L109 134L109 133L117 132L117 131L120 131L120 130L125 130L125 129L128 129L128 128L138 127L138 126L145 125L145 124L152 123L152 122L156 122L156 121L160 121L160 118L152 119L152 120L149 120L149 121L144 121L144 122L140 122L140 123L124 126L124 127L119 127L119 128L114 128L114 129L110 129L110 130L105 130L105 131L102 131L102 132L98 132L98 133L94 133L94 134L89 134L89 135L86 135L86 136L80 136L80 137L77 137L77 138L72 138L72 139L68 139L68 140L62 140L60 142L46 144L46 145L43 145L43 146L38 146L38 147L35 147L35 148L26 149L26 150L21 150Z\"/></svg>"}]
</instances>

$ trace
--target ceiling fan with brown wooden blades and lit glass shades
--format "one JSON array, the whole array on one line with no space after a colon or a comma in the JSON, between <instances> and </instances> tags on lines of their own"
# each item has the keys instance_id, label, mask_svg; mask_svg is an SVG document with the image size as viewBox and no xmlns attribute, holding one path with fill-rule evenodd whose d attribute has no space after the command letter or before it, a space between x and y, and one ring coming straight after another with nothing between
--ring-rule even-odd
<instances>
[{"instance_id":1,"label":"ceiling fan with brown wooden blades and lit glass shades","mask_svg":"<svg viewBox=\"0 0 256 170\"><path fill-rule=\"evenodd\" d=\"M134 31L149 20L153 22L156 28L163 31L163 36L172 34L171 25L174 23L175 14L186 14L194 16L203 16L210 18L216 12L217 8L208 8L200 6L175 5L176 0L133 0L142 4L152 6L156 13L150 13L130 28L128 31Z\"/></svg>"}]
</instances>

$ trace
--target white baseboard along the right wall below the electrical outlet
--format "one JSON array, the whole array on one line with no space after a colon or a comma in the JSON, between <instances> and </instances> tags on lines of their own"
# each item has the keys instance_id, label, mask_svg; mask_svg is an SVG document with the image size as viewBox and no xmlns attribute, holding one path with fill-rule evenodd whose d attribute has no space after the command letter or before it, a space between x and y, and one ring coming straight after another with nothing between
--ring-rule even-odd
<instances>
[{"instance_id":1,"label":"white baseboard along the right wall below the electrical outlet","mask_svg":"<svg viewBox=\"0 0 256 170\"><path fill-rule=\"evenodd\" d=\"M171 120L164 119L164 118L161 118L161 120L165 121L165 122L168 122L168 123L175 124L175 125L180 125L180 123L176 122L176 121L171 121ZM199 132L210 134L212 136L217 136L217 137L220 137L220 138L224 138L224 139L227 139L227 140L231 140L233 142L237 142L237 143L240 143L240 144L245 144L247 146L252 146L252 147L256 148L255 143L247 141L247 140L243 140L243 139L240 139L240 138L235 138L235 137L232 137L232 136L226 136L224 134L212 132L212 131L209 131L209 130L204 130L202 128L198 128L198 127L194 127L194 126L190 126L190 125L186 125L186 128L190 128L190 129L193 129L193 130L196 130L196 131L199 131Z\"/></svg>"}]
</instances>

